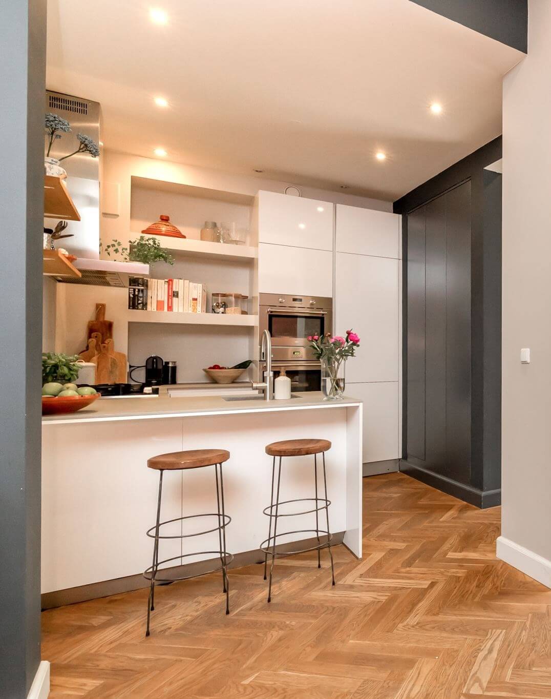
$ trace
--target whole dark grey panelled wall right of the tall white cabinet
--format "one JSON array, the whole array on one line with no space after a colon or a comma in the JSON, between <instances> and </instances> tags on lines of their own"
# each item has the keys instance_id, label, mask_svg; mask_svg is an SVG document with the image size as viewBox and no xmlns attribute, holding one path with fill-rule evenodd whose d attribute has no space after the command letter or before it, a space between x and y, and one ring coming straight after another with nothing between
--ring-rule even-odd
<instances>
[{"instance_id":1,"label":"whole dark grey panelled wall right of the tall white cabinet","mask_svg":"<svg viewBox=\"0 0 551 699\"><path fill-rule=\"evenodd\" d=\"M401 468L479 507L501 483L497 138L394 204L404 235Z\"/></svg>"}]
</instances>

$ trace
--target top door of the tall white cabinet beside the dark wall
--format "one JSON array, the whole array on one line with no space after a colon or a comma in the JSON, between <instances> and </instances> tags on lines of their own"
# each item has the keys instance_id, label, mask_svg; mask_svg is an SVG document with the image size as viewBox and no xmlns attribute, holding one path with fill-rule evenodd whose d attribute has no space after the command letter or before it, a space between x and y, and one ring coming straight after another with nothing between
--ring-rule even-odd
<instances>
[{"instance_id":1,"label":"top door of the tall white cabinet beside the dark wall","mask_svg":"<svg viewBox=\"0 0 551 699\"><path fill-rule=\"evenodd\" d=\"M399 215L337 204L335 250L374 257L399 257Z\"/></svg>"}]
</instances>

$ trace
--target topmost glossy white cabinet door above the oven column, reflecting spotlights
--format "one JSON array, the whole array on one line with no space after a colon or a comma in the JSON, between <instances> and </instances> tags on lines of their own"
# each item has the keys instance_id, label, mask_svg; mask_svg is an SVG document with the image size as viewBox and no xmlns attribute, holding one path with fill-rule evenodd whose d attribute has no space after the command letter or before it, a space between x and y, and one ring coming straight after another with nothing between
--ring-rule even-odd
<instances>
[{"instance_id":1,"label":"topmost glossy white cabinet door above the oven column, reflecting spotlights","mask_svg":"<svg viewBox=\"0 0 551 699\"><path fill-rule=\"evenodd\" d=\"M333 204L277 192L258 192L258 241L332 250Z\"/></svg>"}]
</instances>

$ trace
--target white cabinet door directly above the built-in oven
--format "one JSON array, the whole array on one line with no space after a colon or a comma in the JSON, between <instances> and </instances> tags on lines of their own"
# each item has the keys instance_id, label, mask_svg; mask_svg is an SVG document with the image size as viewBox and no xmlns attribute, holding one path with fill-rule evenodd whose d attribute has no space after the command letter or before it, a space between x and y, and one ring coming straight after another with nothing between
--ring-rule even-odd
<instances>
[{"instance_id":1,"label":"white cabinet door directly above the built-in oven","mask_svg":"<svg viewBox=\"0 0 551 699\"><path fill-rule=\"evenodd\" d=\"M260 294L333 295L333 254L289 245L258 245Z\"/></svg>"}]
</instances>

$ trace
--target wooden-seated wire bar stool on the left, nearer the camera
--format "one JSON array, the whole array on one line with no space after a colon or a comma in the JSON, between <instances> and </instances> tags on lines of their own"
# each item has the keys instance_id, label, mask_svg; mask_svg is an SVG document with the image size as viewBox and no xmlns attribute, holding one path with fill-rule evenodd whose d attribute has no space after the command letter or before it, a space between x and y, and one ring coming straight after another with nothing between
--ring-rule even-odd
<instances>
[{"instance_id":1,"label":"wooden-seated wire bar stool on the left, nearer the camera","mask_svg":"<svg viewBox=\"0 0 551 699\"><path fill-rule=\"evenodd\" d=\"M152 565L147 568L143 575L147 580L151 580L151 587L149 589L149 598L147 600L147 627L145 630L145 635L149 636L149 615L154 611L154 596L155 596L155 584L168 584L170 582L176 582L177 580L188 580L192 577L199 577L200 575L207 575L211 572L216 572L218 570L222 571L222 586L223 591L226 593L226 614L230 613L230 584L228 580L228 563L233 561L233 555L228 554L226 551L226 526L230 524L231 517L224 512L224 488L223 488L223 477L222 477L222 464L228 461L230 458L230 452L226 452L225 449L192 449L187 452L171 452L170 454L161 454L160 456L153 456L152 459L147 461L147 468L153 468L159 471L159 500L157 502L157 519L155 526L147 530L147 536L154 539L153 545L153 562ZM189 468L204 468L205 466L214 466L214 475L216 477L216 502L218 504L217 512L210 512L208 514L190 514L186 517L176 517L175 519L168 519L161 522L161 494L163 491L163 473L166 470L186 470ZM220 470L220 477L219 477ZM218 526L212 529L207 529L205 531L196 532L193 534L179 534L175 536L161 535L159 534L159 529L165 524L170 524L172 522L184 521L186 519L196 519L197 517L217 517ZM193 536L200 536L203 534L209 534L213 531L218 531L219 540L219 550L218 551L197 551L191 554L182 554L180 556L172 556L170 559L165 559L164 561L159 561L159 540L161 539L187 539ZM200 556L204 554L218 554L220 556L221 565L212 568L212 570L207 570L202 573L195 575L183 575L179 577L159 577L159 565L163 563L169 563L170 561L177 561L186 558L187 556ZM161 570L161 575L163 571Z\"/></svg>"}]
</instances>

